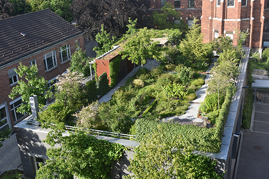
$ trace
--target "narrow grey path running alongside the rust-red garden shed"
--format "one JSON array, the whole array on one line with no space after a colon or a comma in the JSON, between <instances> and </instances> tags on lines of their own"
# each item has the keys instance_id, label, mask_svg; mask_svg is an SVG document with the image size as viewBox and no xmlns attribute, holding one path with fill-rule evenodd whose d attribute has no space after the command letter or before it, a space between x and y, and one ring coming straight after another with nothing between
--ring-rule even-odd
<instances>
[{"instance_id":1,"label":"narrow grey path running alongside the rust-red garden shed","mask_svg":"<svg viewBox=\"0 0 269 179\"><path fill-rule=\"evenodd\" d=\"M143 65L143 68L147 68L148 70L152 68L156 68L160 65L160 61L157 60L150 60L147 59L147 63ZM124 79L118 82L106 95L100 98L98 101L101 102L108 102L111 99L111 96L121 87L124 86L126 81L133 77L134 74L137 72L138 69L141 68L141 65L138 65L132 72L130 72Z\"/></svg>"}]
</instances>

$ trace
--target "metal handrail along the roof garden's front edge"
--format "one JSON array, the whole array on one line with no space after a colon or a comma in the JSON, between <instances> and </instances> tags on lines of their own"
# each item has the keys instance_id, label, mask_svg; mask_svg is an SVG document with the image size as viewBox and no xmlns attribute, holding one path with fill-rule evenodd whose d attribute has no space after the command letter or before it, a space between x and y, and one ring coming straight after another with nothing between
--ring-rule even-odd
<instances>
[{"instance_id":1,"label":"metal handrail along the roof garden's front edge","mask_svg":"<svg viewBox=\"0 0 269 179\"><path fill-rule=\"evenodd\" d=\"M31 124L31 125L38 125L41 126L41 122L36 121L36 120L32 120L32 119L27 119L27 123ZM55 124L50 124L50 125L55 125ZM68 130L76 130L76 129L82 129L79 127L74 127L74 126L69 126L69 125L65 125L67 131ZM134 135L130 135L130 134L122 134L122 133L115 133L115 132L109 132L109 131L101 131L101 130L96 130L96 129L82 129L85 132L90 132L90 133L94 133L97 134L97 136L104 136L104 135L108 135L108 136L112 136L112 137L117 137L117 138L128 138L128 139L135 139L136 136Z\"/></svg>"}]
</instances>

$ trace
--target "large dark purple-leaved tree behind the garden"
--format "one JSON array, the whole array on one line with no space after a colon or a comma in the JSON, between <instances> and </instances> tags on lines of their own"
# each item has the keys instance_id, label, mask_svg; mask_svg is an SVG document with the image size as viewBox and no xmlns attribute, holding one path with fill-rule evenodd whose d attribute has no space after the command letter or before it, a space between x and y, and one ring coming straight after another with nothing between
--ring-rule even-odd
<instances>
[{"instance_id":1,"label":"large dark purple-leaved tree behind the garden","mask_svg":"<svg viewBox=\"0 0 269 179\"><path fill-rule=\"evenodd\" d=\"M86 39L94 40L102 24L111 39L121 37L130 17L137 19L137 28L151 27L149 7L149 0L74 0L71 11Z\"/></svg>"}]
</instances>

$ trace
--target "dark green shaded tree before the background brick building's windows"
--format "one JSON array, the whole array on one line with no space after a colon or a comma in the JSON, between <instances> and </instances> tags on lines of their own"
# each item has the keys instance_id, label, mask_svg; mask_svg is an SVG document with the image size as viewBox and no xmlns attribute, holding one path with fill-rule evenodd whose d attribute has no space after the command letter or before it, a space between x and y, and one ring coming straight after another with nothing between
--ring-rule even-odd
<instances>
[{"instance_id":1,"label":"dark green shaded tree before the background brick building's windows","mask_svg":"<svg viewBox=\"0 0 269 179\"><path fill-rule=\"evenodd\" d=\"M157 11L152 13L153 23L157 26L158 29L188 29L188 25L184 20L180 20L180 12L175 10L175 7L171 5L171 2L164 2L164 6L161 8L161 13ZM179 23L174 23L173 21L167 21L167 18L174 17L176 20L179 20Z\"/></svg>"}]
</instances>

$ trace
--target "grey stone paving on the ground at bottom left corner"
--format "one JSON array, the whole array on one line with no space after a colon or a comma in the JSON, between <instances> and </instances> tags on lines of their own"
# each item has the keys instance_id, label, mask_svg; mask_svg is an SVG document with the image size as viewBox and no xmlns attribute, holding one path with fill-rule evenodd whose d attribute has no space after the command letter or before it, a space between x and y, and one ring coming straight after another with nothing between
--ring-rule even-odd
<instances>
[{"instance_id":1,"label":"grey stone paving on the ground at bottom left corner","mask_svg":"<svg viewBox=\"0 0 269 179\"><path fill-rule=\"evenodd\" d=\"M0 174L4 171L16 169L22 164L16 134L11 135L2 144L3 146L0 147Z\"/></svg>"}]
</instances>

